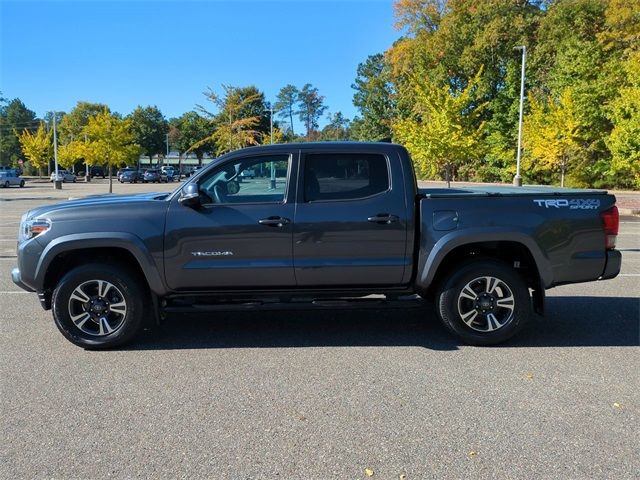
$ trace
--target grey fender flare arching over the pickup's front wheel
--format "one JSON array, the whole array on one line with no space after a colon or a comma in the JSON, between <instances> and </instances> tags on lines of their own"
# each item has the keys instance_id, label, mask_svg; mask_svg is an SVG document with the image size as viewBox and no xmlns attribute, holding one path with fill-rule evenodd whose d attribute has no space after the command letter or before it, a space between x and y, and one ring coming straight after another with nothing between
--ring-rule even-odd
<instances>
[{"instance_id":1,"label":"grey fender flare arching over the pickup's front wheel","mask_svg":"<svg viewBox=\"0 0 640 480\"><path fill-rule=\"evenodd\" d=\"M64 235L49 242L40 256L35 270L35 283L42 287L49 265L59 254L79 249L122 248L130 252L138 261L151 291L164 295L167 288L162 276L144 242L137 236L126 232L90 232Z\"/></svg>"}]
</instances>

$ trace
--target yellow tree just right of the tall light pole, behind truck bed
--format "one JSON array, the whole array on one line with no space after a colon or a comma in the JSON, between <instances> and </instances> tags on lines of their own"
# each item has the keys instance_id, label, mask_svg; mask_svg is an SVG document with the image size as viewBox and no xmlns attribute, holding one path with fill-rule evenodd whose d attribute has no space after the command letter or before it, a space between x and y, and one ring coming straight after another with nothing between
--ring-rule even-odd
<instances>
[{"instance_id":1,"label":"yellow tree just right of the tall light pole, behind truck bed","mask_svg":"<svg viewBox=\"0 0 640 480\"><path fill-rule=\"evenodd\" d=\"M529 96L530 112L524 119L525 171L544 176L560 173L560 186L580 151L580 118L570 88L547 102Z\"/></svg>"}]
</instances>

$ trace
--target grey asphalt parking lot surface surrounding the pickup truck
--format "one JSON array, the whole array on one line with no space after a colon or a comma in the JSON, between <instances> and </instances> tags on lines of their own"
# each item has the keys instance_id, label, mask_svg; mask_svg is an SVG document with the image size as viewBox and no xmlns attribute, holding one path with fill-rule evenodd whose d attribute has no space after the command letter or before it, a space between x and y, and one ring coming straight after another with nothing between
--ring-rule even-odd
<instances>
[{"instance_id":1,"label":"grey asphalt parking lot surface surrounding the pickup truck","mask_svg":"<svg viewBox=\"0 0 640 480\"><path fill-rule=\"evenodd\" d=\"M336 309L174 316L90 352L10 271L24 212L106 189L0 191L2 478L638 478L640 218L619 277L548 291L501 347Z\"/></svg>"}]
</instances>

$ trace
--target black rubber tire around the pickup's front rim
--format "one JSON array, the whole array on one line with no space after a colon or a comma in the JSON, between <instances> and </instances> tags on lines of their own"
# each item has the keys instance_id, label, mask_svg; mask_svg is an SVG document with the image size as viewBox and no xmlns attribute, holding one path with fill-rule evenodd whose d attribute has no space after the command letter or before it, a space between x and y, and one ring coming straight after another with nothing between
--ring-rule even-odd
<instances>
[{"instance_id":1,"label":"black rubber tire around the pickup's front rim","mask_svg":"<svg viewBox=\"0 0 640 480\"><path fill-rule=\"evenodd\" d=\"M102 321L89 318L82 322L80 327L74 323L71 317L71 310L78 305L87 305L77 301L77 296L72 299L72 294L77 288L82 288L85 296L89 298L90 287L94 281L108 282L115 287L107 290L109 297L106 301L124 303L125 314L114 313L109 310L105 312L105 317L113 316L115 320L110 320L109 328L113 331L103 334ZM86 287L85 285L89 285ZM119 298L120 295L122 298ZM144 320L144 299L147 297L146 289L140 284L140 280L132 275L126 267L109 265L106 263L92 263L82 265L69 271L53 292L52 307L53 319L58 330L67 340L79 347L90 350L100 350L113 348L130 342L140 331ZM93 298L93 297L91 297ZM101 297L98 297L99 300ZM73 303L72 303L73 302ZM109 303L106 303L109 305ZM115 304L113 304L115 306ZM82 307L84 308L84 307ZM86 312L80 312L80 315ZM86 314L89 315L89 314ZM76 321L78 321L76 319ZM80 322L79 322L80 323ZM100 325L98 327L98 325ZM97 331L99 329L99 332ZM87 333L89 330L94 330Z\"/></svg>"}]
</instances>

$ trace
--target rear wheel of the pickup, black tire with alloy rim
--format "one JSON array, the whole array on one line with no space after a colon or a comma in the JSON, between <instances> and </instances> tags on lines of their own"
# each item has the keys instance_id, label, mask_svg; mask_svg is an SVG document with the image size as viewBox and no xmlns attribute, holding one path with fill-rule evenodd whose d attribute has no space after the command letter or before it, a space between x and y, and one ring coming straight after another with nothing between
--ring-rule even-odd
<instances>
[{"instance_id":1,"label":"rear wheel of the pickup, black tire with alloy rim","mask_svg":"<svg viewBox=\"0 0 640 480\"><path fill-rule=\"evenodd\" d=\"M492 288L487 278L498 282L493 285L493 293L487 293ZM467 295L470 290L471 295ZM436 309L444 326L464 343L495 345L524 327L531 316L531 299L524 279L509 265L476 260L462 266L444 283L436 297Z\"/></svg>"}]
</instances>

